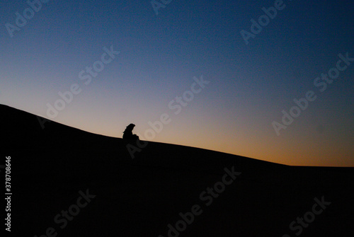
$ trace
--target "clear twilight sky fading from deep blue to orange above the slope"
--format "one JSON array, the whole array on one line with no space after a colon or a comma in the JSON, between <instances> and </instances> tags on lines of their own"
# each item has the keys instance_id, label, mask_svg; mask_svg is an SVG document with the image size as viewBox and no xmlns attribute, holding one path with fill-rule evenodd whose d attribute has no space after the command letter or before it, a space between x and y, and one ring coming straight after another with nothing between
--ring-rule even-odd
<instances>
[{"instance_id":1,"label":"clear twilight sky fading from deep blue to orange above the slope","mask_svg":"<svg viewBox=\"0 0 354 237\"><path fill-rule=\"evenodd\" d=\"M142 140L354 166L350 1L0 8L1 104L110 137L134 123Z\"/></svg>"}]
</instances>

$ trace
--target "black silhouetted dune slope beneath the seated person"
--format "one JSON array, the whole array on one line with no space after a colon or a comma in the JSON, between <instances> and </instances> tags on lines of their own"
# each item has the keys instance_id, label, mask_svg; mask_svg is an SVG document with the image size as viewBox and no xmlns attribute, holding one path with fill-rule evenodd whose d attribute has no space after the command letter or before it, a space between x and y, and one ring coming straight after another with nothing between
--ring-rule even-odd
<instances>
[{"instance_id":1,"label":"black silhouetted dune slope beneath the seated person","mask_svg":"<svg viewBox=\"0 0 354 237\"><path fill-rule=\"evenodd\" d=\"M56 122L42 129L35 115L4 105L0 114L0 165L11 156L11 236L41 236L49 227L57 236L169 236L168 224L195 204L202 214L179 236L295 236L290 222L322 196L331 204L301 236L354 234L353 168L282 166L156 142L132 159L122 139ZM241 175L207 206L200 193L233 166ZM96 197L66 226L56 223L80 190Z\"/></svg>"}]
</instances>

